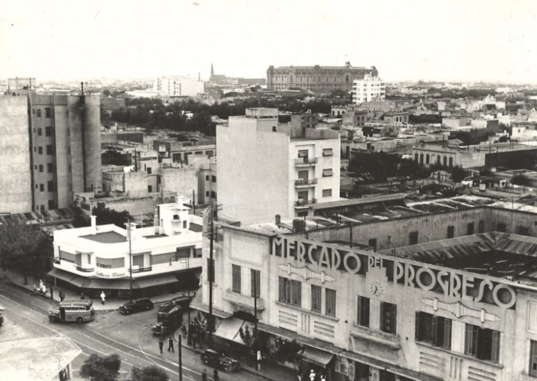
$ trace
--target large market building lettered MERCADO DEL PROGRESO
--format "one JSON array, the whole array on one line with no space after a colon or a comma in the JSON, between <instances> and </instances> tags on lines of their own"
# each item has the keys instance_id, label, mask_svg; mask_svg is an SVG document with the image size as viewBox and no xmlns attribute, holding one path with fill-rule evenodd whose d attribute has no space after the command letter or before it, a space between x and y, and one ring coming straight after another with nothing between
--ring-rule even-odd
<instances>
[{"instance_id":1,"label":"large market building lettered MERCADO DEL PROGRESO","mask_svg":"<svg viewBox=\"0 0 537 381\"><path fill-rule=\"evenodd\" d=\"M510 226L511 214L476 207L363 223L352 227L353 246L348 227L315 231L311 223L311 234L297 234L280 223L223 225L215 336L255 313L258 279L262 351L296 341L306 371L329 380L534 380L535 214L515 212ZM474 223L479 234L468 233ZM527 235L514 234L526 223ZM443 237L424 241L426 230ZM375 251L364 250L371 237ZM385 237L410 241L394 248ZM208 287L204 278L192 304L204 312Z\"/></svg>"}]
</instances>

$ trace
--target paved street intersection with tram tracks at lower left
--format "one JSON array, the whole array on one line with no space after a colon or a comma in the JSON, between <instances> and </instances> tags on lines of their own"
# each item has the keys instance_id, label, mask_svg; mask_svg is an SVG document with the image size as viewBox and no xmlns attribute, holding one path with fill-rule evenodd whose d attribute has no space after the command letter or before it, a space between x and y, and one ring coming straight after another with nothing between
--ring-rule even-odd
<instances>
[{"instance_id":1,"label":"paved street intersection with tram tracks at lower left","mask_svg":"<svg viewBox=\"0 0 537 381\"><path fill-rule=\"evenodd\" d=\"M96 353L101 356L117 353L122 359L122 378L127 378L133 366L144 367L157 365L163 368L170 376L170 380L178 380L178 352L167 352L167 343L164 354L158 350L158 339L151 333L151 324L156 321L156 310L132 315L121 315L117 311L98 313L96 320L82 325L78 324L52 324L48 321L48 310L53 305L41 297L28 294L16 287L4 287L0 292L0 306L6 308L3 315L6 324L1 328L2 336L8 330L28 331L31 337L64 335L69 337L83 350L75 361L73 368L79 369L83 361ZM186 318L186 316L185 316ZM201 371L207 368L199 360L199 354L192 350L182 350L182 377L185 381L201 380ZM213 369L207 368L209 376ZM257 375L241 371L234 374L220 373L220 380L264 380ZM209 377L209 380L212 380Z\"/></svg>"}]
</instances>

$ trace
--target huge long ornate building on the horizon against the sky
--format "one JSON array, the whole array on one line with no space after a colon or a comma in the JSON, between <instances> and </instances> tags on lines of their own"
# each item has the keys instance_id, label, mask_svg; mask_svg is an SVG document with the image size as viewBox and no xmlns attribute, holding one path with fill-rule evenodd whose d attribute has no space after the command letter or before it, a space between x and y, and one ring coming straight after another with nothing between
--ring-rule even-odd
<instances>
[{"instance_id":1,"label":"huge long ornate building on the horizon against the sky","mask_svg":"<svg viewBox=\"0 0 537 381\"><path fill-rule=\"evenodd\" d=\"M299 87L316 93L334 90L351 91L354 80L363 80L366 75L378 77L375 66L353 68L350 62L345 66L270 66L266 70L266 84L271 90L285 90Z\"/></svg>"}]
</instances>

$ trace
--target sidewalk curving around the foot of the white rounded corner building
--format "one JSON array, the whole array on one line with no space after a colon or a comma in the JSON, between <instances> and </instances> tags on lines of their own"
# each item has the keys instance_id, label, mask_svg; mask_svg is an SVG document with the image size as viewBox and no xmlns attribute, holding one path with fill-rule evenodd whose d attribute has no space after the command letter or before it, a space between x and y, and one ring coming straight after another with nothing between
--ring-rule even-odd
<instances>
[{"instance_id":1,"label":"sidewalk curving around the foot of the white rounded corner building","mask_svg":"<svg viewBox=\"0 0 537 381\"><path fill-rule=\"evenodd\" d=\"M19 287L23 290L26 290L28 292L34 292L34 285L39 285L39 280L34 279L33 276L28 276L28 284L24 285L24 276L20 274L19 272L13 270L13 269L6 269L6 271L0 270L0 278L6 278L8 282L15 285L15 287ZM36 294L36 297L46 299L50 301L50 304L58 304L59 303L59 292L62 291L65 294L65 300L73 300L73 299L80 299L80 294L74 292L73 290L69 290L65 287L60 286L53 286L54 292L52 292L54 299L50 298L50 287L47 285L47 294L46 296L41 296ZM164 303L165 301L169 301L175 297L182 297L185 296L186 292L178 292L177 294L162 294L157 295L155 297L150 297L151 301L154 304L160 304ZM106 298L105 304L103 305L100 298L90 298L86 295L86 300L93 301L93 308L95 311L116 311L120 306L124 303L126 303L127 299L118 299L118 298Z\"/></svg>"}]
</instances>

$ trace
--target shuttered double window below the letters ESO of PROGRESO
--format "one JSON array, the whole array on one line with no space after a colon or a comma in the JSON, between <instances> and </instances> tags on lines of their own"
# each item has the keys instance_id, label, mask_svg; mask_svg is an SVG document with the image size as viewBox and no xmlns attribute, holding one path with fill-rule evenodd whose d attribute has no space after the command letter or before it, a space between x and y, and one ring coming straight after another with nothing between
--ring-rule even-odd
<instances>
[{"instance_id":1,"label":"shuttered double window below the letters ESO of PROGRESO","mask_svg":"<svg viewBox=\"0 0 537 381\"><path fill-rule=\"evenodd\" d=\"M466 323L464 331L464 353L480 360L497 363L500 353L500 333Z\"/></svg>"}]
</instances>

